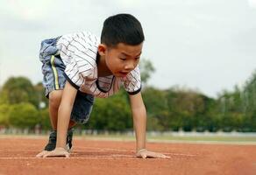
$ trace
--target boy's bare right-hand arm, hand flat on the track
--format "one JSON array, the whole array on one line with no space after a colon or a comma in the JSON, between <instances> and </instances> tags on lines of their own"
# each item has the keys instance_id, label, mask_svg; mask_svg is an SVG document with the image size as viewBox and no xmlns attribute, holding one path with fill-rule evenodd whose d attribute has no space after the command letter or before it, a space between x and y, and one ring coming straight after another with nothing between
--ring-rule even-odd
<instances>
[{"instance_id":1,"label":"boy's bare right-hand arm, hand flat on the track","mask_svg":"<svg viewBox=\"0 0 256 175\"><path fill-rule=\"evenodd\" d=\"M130 95L130 103L136 135L136 156L139 158L168 158L161 153L146 150L146 108L141 93Z\"/></svg>"}]
</instances>

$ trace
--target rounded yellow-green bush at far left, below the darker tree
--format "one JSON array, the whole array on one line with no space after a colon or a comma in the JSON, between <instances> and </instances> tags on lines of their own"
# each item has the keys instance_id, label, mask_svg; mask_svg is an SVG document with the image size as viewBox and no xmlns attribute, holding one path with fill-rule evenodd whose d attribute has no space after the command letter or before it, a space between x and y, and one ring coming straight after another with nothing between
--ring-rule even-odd
<instances>
[{"instance_id":1,"label":"rounded yellow-green bush at far left, below the darker tree","mask_svg":"<svg viewBox=\"0 0 256 175\"><path fill-rule=\"evenodd\" d=\"M30 103L19 103L11 105L9 121L11 126L20 129L32 129L39 123L39 112Z\"/></svg>"}]
</instances>

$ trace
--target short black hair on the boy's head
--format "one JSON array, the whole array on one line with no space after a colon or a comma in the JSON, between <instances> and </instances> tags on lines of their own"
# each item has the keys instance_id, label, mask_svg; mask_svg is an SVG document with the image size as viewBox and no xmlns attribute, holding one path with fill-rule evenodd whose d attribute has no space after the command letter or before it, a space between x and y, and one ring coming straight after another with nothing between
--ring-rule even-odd
<instances>
[{"instance_id":1,"label":"short black hair on the boy's head","mask_svg":"<svg viewBox=\"0 0 256 175\"><path fill-rule=\"evenodd\" d=\"M115 47L118 43L139 45L144 41L142 26L131 14L117 14L106 18L103 23L101 43Z\"/></svg>"}]
</instances>

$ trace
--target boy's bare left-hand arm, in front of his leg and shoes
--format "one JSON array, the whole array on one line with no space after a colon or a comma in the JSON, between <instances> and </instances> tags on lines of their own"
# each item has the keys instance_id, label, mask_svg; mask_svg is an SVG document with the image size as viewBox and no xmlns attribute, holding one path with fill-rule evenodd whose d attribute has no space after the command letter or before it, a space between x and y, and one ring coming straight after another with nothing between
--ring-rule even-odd
<instances>
[{"instance_id":1,"label":"boy's bare left-hand arm, in front of his leg and shoes","mask_svg":"<svg viewBox=\"0 0 256 175\"><path fill-rule=\"evenodd\" d=\"M73 109L77 90L67 81L62 93L60 107L58 110L57 143L53 151L46 152L41 157L69 157L66 151L68 123Z\"/></svg>"}]
</instances>

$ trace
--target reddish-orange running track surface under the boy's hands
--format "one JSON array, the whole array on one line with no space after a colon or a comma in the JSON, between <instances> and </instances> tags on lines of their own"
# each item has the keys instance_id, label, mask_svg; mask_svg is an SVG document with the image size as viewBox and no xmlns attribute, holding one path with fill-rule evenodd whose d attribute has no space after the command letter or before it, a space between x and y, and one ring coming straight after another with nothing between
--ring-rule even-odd
<instances>
[{"instance_id":1,"label":"reddish-orange running track surface under the boy's hands","mask_svg":"<svg viewBox=\"0 0 256 175\"><path fill-rule=\"evenodd\" d=\"M134 142L75 139L71 158L35 158L46 137L1 137L4 174L256 174L256 145L160 144L147 148L168 159L135 158Z\"/></svg>"}]
</instances>

